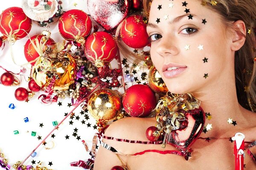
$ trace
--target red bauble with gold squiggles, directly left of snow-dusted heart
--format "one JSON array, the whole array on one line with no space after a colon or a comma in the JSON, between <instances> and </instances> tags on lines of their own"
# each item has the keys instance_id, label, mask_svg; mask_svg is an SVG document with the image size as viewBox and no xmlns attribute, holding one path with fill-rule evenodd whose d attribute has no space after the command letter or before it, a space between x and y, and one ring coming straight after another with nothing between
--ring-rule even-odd
<instances>
[{"instance_id":1,"label":"red bauble with gold squiggles, directly left of snow-dusted heart","mask_svg":"<svg viewBox=\"0 0 256 170\"><path fill-rule=\"evenodd\" d=\"M87 37L92 29L92 21L84 11L72 9L61 16L58 28L64 39L83 44L84 37Z\"/></svg>"}]
</instances>

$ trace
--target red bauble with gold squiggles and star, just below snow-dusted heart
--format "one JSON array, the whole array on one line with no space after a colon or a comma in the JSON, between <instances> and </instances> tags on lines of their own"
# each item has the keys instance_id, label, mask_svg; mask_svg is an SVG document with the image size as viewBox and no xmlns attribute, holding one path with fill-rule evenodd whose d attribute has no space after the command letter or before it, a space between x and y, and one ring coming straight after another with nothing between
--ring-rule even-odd
<instances>
[{"instance_id":1,"label":"red bauble with gold squiggles and star, just below snow-dusted heart","mask_svg":"<svg viewBox=\"0 0 256 170\"><path fill-rule=\"evenodd\" d=\"M111 62L116 57L117 49L116 41L111 34L100 31L87 38L84 53L96 67L103 67L105 62Z\"/></svg>"}]
</instances>

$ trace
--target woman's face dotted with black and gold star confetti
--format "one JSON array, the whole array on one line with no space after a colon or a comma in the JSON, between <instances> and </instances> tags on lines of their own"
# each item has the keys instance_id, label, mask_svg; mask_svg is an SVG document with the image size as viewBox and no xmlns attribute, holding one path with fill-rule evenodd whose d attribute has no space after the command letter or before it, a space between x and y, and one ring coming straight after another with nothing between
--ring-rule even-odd
<instances>
[{"instance_id":1,"label":"woman's face dotted with black and gold star confetti","mask_svg":"<svg viewBox=\"0 0 256 170\"><path fill-rule=\"evenodd\" d=\"M212 88L233 61L226 27L201 0L153 0L147 32L151 59L172 93Z\"/></svg>"}]
</instances>

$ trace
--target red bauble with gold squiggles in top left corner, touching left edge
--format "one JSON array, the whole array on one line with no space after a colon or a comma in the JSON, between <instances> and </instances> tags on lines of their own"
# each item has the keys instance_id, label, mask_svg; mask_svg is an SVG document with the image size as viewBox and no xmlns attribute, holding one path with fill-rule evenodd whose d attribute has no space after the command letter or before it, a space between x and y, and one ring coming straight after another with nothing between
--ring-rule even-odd
<instances>
[{"instance_id":1,"label":"red bauble with gold squiggles in top left corner, touching left edge","mask_svg":"<svg viewBox=\"0 0 256 170\"><path fill-rule=\"evenodd\" d=\"M12 35L13 40L26 37L27 35L26 32L29 33L31 26L32 26L32 21L29 17L25 15L22 8L19 8L19 7L7 8L0 15L1 33L5 37Z\"/></svg>"}]
</instances>

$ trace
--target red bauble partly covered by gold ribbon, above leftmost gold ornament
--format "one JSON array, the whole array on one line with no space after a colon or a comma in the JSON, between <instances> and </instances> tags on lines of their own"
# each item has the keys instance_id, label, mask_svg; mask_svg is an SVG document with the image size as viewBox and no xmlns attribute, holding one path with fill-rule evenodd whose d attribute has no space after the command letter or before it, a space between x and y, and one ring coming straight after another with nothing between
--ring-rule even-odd
<instances>
[{"instance_id":1,"label":"red bauble partly covered by gold ribbon, above leftmost gold ornament","mask_svg":"<svg viewBox=\"0 0 256 170\"><path fill-rule=\"evenodd\" d=\"M32 40L32 42L34 43L35 46L37 46L36 41L38 41L39 43L43 44L44 42L42 40L42 37L44 37L44 35L38 34L38 35L34 35L33 37L31 37L30 39ZM32 42L30 40L27 40L26 44L24 45L24 55L26 57L26 60L28 62L35 60L37 57L39 57L38 52L35 50L34 46L32 45ZM54 45L55 42L49 38L47 40L47 42L45 43L45 45ZM39 47L38 47L39 48ZM34 65L35 62L32 62L31 65Z\"/></svg>"}]
</instances>

